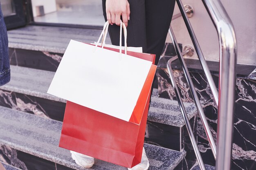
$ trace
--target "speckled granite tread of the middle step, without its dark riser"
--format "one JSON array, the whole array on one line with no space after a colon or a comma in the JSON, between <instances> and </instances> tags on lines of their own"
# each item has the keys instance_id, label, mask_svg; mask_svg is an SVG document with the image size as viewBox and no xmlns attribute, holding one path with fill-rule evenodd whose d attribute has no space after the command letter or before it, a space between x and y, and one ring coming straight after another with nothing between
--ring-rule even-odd
<instances>
[{"instance_id":1,"label":"speckled granite tread of the middle step, without its dark riser","mask_svg":"<svg viewBox=\"0 0 256 170\"><path fill-rule=\"evenodd\" d=\"M53 77L54 72L11 65L11 81L1 86L0 89L47 100L66 102L66 100L47 94ZM195 105L185 102L184 106L189 119L192 118L196 114ZM148 120L171 126L184 126L177 101L158 98L157 89L153 90Z\"/></svg>"}]
</instances>

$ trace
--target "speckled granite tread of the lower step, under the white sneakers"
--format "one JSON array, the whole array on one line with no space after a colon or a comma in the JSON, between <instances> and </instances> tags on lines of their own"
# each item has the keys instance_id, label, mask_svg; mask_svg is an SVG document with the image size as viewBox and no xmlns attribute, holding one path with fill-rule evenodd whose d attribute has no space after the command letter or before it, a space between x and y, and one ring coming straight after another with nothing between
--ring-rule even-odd
<instances>
[{"instance_id":1,"label":"speckled granite tread of the lower step, under the white sneakers","mask_svg":"<svg viewBox=\"0 0 256 170\"><path fill-rule=\"evenodd\" d=\"M58 147L62 122L0 107L0 143L31 155L74 168L70 152ZM150 170L172 170L186 155L150 144L144 144ZM96 160L92 170L126 170L124 167Z\"/></svg>"}]
</instances>

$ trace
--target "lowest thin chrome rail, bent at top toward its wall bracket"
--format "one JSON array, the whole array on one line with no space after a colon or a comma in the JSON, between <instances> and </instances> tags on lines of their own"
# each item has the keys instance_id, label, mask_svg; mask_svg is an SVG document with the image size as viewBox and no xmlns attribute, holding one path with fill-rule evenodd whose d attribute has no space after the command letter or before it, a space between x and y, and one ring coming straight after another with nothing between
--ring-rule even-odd
<instances>
[{"instance_id":1,"label":"lowest thin chrome rail, bent at top toward its wall bracket","mask_svg":"<svg viewBox=\"0 0 256 170\"><path fill-rule=\"evenodd\" d=\"M182 56L189 53L190 50L186 50L185 52L182 53ZM177 101L179 103L179 106L180 106L180 111L182 113L182 116L183 116L183 119L184 119L184 122L185 122L185 125L186 125L186 129L189 133L189 138L191 140L191 143L192 143L192 146L193 146L193 149L195 150L195 157L196 159L198 160L198 165L200 167L201 170L205 170L205 166L204 166L204 162L202 160L202 157L201 157L201 154L200 154L200 151L198 149L198 145L197 145L197 142L195 140L195 136L193 135L193 130L189 124L189 118L186 114L186 110L185 110L185 107L183 105L183 102L182 102L182 98L180 97L180 92L179 92L179 89L177 87L177 83L175 81L175 77L173 75L173 69L171 67L171 63L173 61L175 61L176 59L178 59L178 56L175 56L171 59L169 59L167 61L167 69L168 69L168 73L169 73L169 76L170 76L170 79L171 79L171 83L173 85L173 88L175 90L175 94L176 94L176 97L177 97Z\"/></svg>"}]
</instances>

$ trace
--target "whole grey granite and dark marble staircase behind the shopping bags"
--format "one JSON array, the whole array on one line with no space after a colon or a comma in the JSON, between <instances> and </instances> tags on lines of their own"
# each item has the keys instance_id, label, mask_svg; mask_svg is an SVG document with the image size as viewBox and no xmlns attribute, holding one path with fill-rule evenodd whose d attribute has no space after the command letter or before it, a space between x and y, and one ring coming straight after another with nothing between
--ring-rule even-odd
<instances>
[{"instance_id":1,"label":"whole grey granite and dark marble staircase behind the shopping bags","mask_svg":"<svg viewBox=\"0 0 256 170\"><path fill-rule=\"evenodd\" d=\"M8 31L11 81L0 87L0 161L7 169L82 169L58 147L66 101L47 89L70 39L93 42L100 32L47 26ZM144 144L150 170L172 170L186 155L184 121L177 101L159 98L157 89L151 100ZM195 105L185 107L193 122ZM97 160L92 169L126 168Z\"/></svg>"}]
</instances>

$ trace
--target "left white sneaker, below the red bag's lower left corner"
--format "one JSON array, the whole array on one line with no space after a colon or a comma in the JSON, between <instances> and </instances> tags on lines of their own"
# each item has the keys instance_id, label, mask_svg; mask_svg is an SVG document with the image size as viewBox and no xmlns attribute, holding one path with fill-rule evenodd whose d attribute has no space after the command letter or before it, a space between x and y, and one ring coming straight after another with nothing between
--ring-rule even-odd
<instances>
[{"instance_id":1,"label":"left white sneaker, below the red bag's lower left corner","mask_svg":"<svg viewBox=\"0 0 256 170\"><path fill-rule=\"evenodd\" d=\"M70 150L72 154L72 159L76 162L77 165L82 166L83 168L91 168L94 164L94 158L81 153L74 152Z\"/></svg>"}]
</instances>

